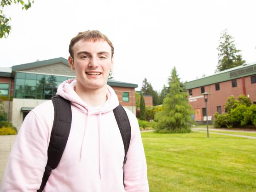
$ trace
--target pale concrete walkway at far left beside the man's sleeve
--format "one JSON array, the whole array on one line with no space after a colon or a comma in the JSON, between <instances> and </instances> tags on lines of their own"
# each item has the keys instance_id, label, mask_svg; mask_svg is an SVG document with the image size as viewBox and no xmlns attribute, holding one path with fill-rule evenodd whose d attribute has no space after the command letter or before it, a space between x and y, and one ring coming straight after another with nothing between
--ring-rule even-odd
<instances>
[{"instance_id":1,"label":"pale concrete walkway at far left beside the man's sleeve","mask_svg":"<svg viewBox=\"0 0 256 192\"><path fill-rule=\"evenodd\" d=\"M0 186L16 135L0 136Z\"/></svg>"}]
</instances>

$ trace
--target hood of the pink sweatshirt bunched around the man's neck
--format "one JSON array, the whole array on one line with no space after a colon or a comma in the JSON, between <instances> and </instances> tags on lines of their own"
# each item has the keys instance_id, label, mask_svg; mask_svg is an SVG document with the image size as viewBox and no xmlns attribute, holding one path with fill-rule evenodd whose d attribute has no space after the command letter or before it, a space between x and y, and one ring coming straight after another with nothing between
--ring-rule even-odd
<instances>
[{"instance_id":1,"label":"hood of the pink sweatshirt bunched around the man's neck","mask_svg":"<svg viewBox=\"0 0 256 192\"><path fill-rule=\"evenodd\" d=\"M57 95L69 100L83 113L103 114L112 111L119 105L116 93L109 85L107 85L106 89L107 100L99 107L89 107L87 103L77 95L76 91L74 90L75 88L76 79L68 79L58 86Z\"/></svg>"}]
</instances>

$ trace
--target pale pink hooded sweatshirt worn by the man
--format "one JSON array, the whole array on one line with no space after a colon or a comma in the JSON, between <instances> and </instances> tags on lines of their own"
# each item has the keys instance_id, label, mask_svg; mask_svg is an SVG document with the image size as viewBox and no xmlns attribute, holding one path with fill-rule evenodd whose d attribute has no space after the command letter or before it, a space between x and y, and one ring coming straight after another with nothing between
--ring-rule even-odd
<instances>
[{"instance_id":1,"label":"pale pink hooded sweatshirt worn by the man","mask_svg":"<svg viewBox=\"0 0 256 192\"><path fill-rule=\"evenodd\" d=\"M119 104L115 91L107 86L107 101L91 108L76 94L75 86L76 80L69 79L58 87L57 94L71 102L72 124L63 156L44 191L148 192L145 154L134 114L126 109L132 135L123 166L124 146L112 111ZM3 192L39 189L53 119L51 100L27 115L12 147L2 181Z\"/></svg>"}]
</instances>

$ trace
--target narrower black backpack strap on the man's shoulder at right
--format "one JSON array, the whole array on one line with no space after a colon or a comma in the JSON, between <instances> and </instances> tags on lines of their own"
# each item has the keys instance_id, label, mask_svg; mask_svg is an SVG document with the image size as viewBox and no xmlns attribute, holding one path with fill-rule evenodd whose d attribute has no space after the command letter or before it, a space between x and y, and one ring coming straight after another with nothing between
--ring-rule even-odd
<instances>
[{"instance_id":1,"label":"narrower black backpack strap on the man's shoulder at right","mask_svg":"<svg viewBox=\"0 0 256 192\"><path fill-rule=\"evenodd\" d=\"M118 105L116 108L113 109L116 122L118 124L121 136L122 136L122 141L124 145L124 160L123 164L126 163L126 154L129 149L130 141L131 141L131 125L130 121L128 119L127 113L125 112L124 108L122 105Z\"/></svg>"}]
</instances>

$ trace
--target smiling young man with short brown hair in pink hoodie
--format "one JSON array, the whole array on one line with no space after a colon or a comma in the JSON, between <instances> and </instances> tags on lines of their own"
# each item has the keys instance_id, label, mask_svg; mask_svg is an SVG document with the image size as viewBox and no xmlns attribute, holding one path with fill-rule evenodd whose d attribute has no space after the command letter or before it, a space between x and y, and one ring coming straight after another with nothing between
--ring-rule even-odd
<instances>
[{"instance_id":1,"label":"smiling young man with short brown hair in pink hoodie","mask_svg":"<svg viewBox=\"0 0 256 192\"><path fill-rule=\"evenodd\" d=\"M131 141L124 146L113 109L119 105L107 85L114 48L99 31L79 33L70 42L69 65L76 79L64 81L57 95L71 102L72 123L62 158L45 192L148 192L144 149L136 117L126 110ZM52 101L35 107L25 118L6 167L3 192L35 192L47 164L54 109Z\"/></svg>"}]
</instances>

